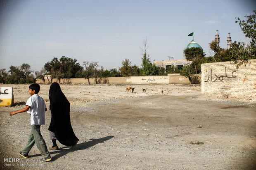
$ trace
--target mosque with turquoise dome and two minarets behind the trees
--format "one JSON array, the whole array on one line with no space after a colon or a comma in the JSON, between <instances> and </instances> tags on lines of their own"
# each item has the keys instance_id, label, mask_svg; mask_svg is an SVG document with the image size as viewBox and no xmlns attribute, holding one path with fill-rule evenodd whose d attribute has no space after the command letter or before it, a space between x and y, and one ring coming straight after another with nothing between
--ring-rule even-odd
<instances>
[{"instance_id":1,"label":"mosque with turquoise dome and two minarets behind the trees","mask_svg":"<svg viewBox=\"0 0 256 170\"><path fill-rule=\"evenodd\" d=\"M217 45L220 45L220 36L219 36L219 31L216 30L216 35L215 35L215 41L217 41ZM230 32L228 33L228 39L227 39L227 45L228 45L228 49L230 48L231 45L231 37L230 37ZM183 50L183 60L174 60L174 57L168 57L169 60L166 61L153 61L153 64L156 65L156 67L163 67L163 68L168 68L168 66L175 66L178 69L182 68L185 64L191 64L192 61L187 61L186 57L185 57L185 50L187 48L192 48L192 47L198 47L203 49L197 42L194 41L194 36L192 41L190 41L189 44L187 44L187 46L185 46L184 50Z\"/></svg>"}]
</instances>

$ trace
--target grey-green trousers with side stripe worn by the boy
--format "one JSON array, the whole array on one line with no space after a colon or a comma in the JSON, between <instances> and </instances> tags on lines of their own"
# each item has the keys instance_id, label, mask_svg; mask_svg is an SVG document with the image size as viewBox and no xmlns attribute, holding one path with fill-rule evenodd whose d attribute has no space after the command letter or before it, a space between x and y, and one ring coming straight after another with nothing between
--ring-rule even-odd
<instances>
[{"instance_id":1,"label":"grey-green trousers with side stripe worn by the boy","mask_svg":"<svg viewBox=\"0 0 256 170\"><path fill-rule=\"evenodd\" d=\"M36 143L36 146L39 149L43 158L49 159L51 156L50 156L50 153L48 152L47 146L45 144L45 140L43 139L43 136L41 135L40 126L41 125L35 125L35 124L31 125L32 129L28 136L27 145L24 147L24 149L21 152L23 154L28 154L30 149Z\"/></svg>"}]
</instances>

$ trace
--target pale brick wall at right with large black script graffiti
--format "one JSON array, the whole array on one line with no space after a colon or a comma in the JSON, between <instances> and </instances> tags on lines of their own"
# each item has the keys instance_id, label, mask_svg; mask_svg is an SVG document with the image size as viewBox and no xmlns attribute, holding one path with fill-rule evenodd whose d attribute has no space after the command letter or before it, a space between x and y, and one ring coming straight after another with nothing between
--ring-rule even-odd
<instances>
[{"instance_id":1,"label":"pale brick wall at right with large black script graffiti","mask_svg":"<svg viewBox=\"0 0 256 170\"><path fill-rule=\"evenodd\" d=\"M201 93L219 98L256 99L256 60L201 64Z\"/></svg>"}]
</instances>

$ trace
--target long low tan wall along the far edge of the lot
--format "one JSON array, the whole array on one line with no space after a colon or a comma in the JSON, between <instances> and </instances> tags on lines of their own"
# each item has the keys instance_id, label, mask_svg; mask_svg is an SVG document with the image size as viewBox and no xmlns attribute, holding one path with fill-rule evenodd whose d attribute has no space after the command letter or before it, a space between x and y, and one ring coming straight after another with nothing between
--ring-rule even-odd
<instances>
[{"instance_id":1,"label":"long low tan wall along the far edge of the lot","mask_svg":"<svg viewBox=\"0 0 256 170\"><path fill-rule=\"evenodd\" d=\"M88 84L88 79L85 78L70 78L61 79L60 81L56 78L52 82L57 83L77 83L77 84ZM43 83L42 80L37 79L36 83ZM48 83L48 80L45 80ZM189 84L188 78L180 75L173 76L132 76L132 77L108 77L108 78L97 78L97 83L100 84ZM95 78L90 78L90 84L95 84Z\"/></svg>"}]
</instances>

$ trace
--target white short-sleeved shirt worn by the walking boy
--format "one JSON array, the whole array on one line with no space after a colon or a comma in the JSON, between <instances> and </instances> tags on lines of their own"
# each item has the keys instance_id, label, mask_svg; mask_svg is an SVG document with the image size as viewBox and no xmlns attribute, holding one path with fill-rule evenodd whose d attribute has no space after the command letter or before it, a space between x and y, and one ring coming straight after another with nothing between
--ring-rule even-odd
<instances>
[{"instance_id":1,"label":"white short-sleeved shirt worn by the walking boy","mask_svg":"<svg viewBox=\"0 0 256 170\"><path fill-rule=\"evenodd\" d=\"M45 101L38 94L33 94L33 96L29 97L26 106L31 106L30 110L28 110L28 114L30 114L30 124L33 125L41 125L45 124Z\"/></svg>"}]
</instances>

